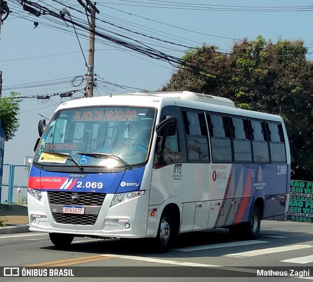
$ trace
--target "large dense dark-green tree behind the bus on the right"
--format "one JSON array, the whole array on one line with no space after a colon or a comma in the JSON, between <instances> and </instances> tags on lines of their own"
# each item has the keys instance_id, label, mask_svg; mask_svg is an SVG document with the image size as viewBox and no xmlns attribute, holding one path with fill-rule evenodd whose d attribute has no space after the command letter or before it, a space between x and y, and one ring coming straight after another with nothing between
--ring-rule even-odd
<instances>
[{"instance_id":1,"label":"large dense dark-green tree behind the bus on the right","mask_svg":"<svg viewBox=\"0 0 313 282\"><path fill-rule=\"evenodd\" d=\"M258 36L229 53L189 49L161 91L189 90L231 99L237 107L280 115L287 126L293 179L313 181L313 62L302 40Z\"/></svg>"}]
</instances>

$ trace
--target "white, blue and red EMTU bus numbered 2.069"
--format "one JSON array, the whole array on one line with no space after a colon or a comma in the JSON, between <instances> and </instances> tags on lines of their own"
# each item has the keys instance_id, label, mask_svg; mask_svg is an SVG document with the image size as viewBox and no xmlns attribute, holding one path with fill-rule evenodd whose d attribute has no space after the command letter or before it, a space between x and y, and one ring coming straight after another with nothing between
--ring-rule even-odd
<instances>
[{"instance_id":1,"label":"white, blue and red EMTU bus numbered 2.069","mask_svg":"<svg viewBox=\"0 0 313 282\"><path fill-rule=\"evenodd\" d=\"M188 91L62 103L39 122L28 182L30 231L151 238L218 227L254 239L283 215L290 149L279 116Z\"/></svg>"}]
</instances>

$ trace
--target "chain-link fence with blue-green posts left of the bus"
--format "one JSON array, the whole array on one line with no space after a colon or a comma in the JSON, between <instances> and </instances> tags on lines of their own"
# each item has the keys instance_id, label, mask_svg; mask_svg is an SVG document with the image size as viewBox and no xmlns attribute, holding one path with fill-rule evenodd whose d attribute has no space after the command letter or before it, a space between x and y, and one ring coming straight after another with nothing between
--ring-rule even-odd
<instances>
[{"instance_id":1,"label":"chain-link fence with blue-green posts left of the bus","mask_svg":"<svg viewBox=\"0 0 313 282\"><path fill-rule=\"evenodd\" d=\"M1 203L27 204L29 166L3 164Z\"/></svg>"}]
</instances>

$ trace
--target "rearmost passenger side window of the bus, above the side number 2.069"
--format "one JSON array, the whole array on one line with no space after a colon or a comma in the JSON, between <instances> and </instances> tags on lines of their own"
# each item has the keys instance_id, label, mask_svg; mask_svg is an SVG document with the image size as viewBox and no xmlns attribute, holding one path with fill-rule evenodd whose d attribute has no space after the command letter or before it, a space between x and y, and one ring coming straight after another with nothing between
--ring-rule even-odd
<instances>
[{"instance_id":1,"label":"rearmost passenger side window of the bus, above the side number 2.069","mask_svg":"<svg viewBox=\"0 0 313 282\"><path fill-rule=\"evenodd\" d=\"M281 124L268 123L269 129L269 147L272 162L286 163L286 147L284 132Z\"/></svg>"}]
</instances>

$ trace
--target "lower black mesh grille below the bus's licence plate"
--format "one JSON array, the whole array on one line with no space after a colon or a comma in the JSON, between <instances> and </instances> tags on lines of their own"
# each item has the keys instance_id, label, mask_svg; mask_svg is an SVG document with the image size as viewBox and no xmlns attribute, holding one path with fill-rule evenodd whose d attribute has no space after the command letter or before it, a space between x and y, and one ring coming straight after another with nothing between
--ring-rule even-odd
<instances>
[{"instance_id":1,"label":"lower black mesh grille below the bus's licence plate","mask_svg":"<svg viewBox=\"0 0 313 282\"><path fill-rule=\"evenodd\" d=\"M64 213L52 213L56 223L75 224L75 225L94 225L98 215L76 215Z\"/></svg>"}]
</instances>

